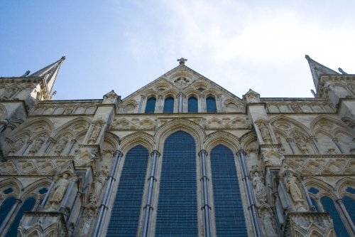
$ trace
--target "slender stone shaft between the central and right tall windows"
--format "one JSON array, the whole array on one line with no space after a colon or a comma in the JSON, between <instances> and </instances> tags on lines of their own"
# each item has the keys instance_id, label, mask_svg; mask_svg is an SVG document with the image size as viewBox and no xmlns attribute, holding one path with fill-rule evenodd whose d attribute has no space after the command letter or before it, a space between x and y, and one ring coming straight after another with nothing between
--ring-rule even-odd
<instances>
[{"instance_id":1,"label":"slender stone shaft between the central and right tall windows","mask_svg":"<svg viewBox=\"0 0 355 237\"><path fill-rule=\"evenodd\" d=\"M207 164L206 164L207 152L204 149L202 149L202 151L199 153L199 156L201 157L201 171L202 171L202 178L200 179L200 181L202 181L202 193L203 193L202 209L204 211L204 237L210 237L212 236L212 231L211 231L211 215L210 215L211 206L209 206L209 190L208 190L209 179L207 178Z\"/></svg>"}]
</instances>

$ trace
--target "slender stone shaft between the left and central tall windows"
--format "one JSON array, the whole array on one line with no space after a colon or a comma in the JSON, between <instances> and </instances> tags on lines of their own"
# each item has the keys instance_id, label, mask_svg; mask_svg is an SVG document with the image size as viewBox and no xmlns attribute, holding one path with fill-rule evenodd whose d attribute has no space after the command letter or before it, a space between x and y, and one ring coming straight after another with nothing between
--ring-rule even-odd
<instances>
[{"instance_id":1,"label":"slender stone shaft between the left and central tall windows","mask_svg":"<svg viewBox=\"0 0 355 237\"><path fill-rule=\"evenodd\" d=\"M157 159L160 157L160 153L157 150L154 150L151 153L151 157L153 157L152 164L151 164L151 174L148 178L148 194L146 199L146 205L144 206L144 219L143 219L143 233L142 236L148 236L149 231L149 219L151 218L151 211L153 210L152 201L153 201L153 189L154 184L156 182L155 178L155 169L157 164Z\"/></svg>"}]
</instances>

